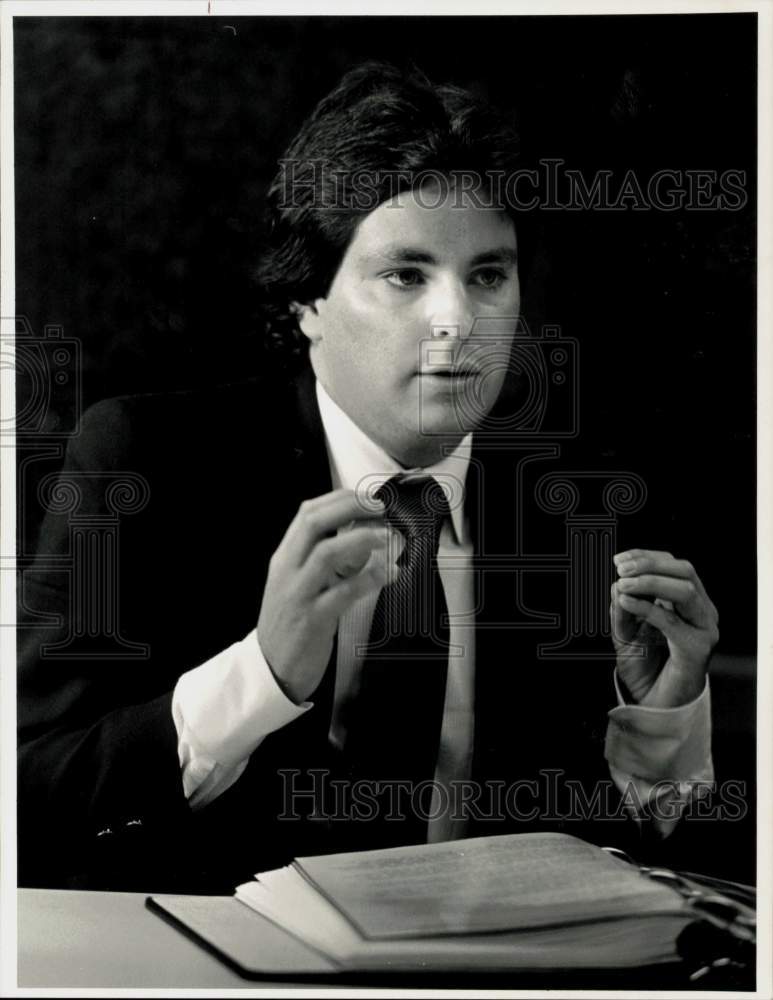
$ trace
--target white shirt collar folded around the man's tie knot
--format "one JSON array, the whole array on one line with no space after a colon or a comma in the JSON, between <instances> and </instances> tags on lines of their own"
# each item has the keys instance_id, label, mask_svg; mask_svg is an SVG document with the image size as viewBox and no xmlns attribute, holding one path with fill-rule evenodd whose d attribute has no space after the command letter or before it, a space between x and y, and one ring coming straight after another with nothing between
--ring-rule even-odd
<instances>
[{"instance_id":1,"label":"white shirt collar folded around the man's tie knot","mask_svg":"<svg viewBox=\"0 0 773 1000\"><path fill-rule=\"evenodd\" d=\"M464 437L457 447L439 462L424 469L404 469L388 455L383 448L371 440L352 418L328 395L317 379L317 402L325 431L330 473L333 487L353 490L367 479L368 485L376 486L397 473L416 473L434 476L441 485L450 489L451 523L457 543L465 537L464 529L464 486L472 451L472 434ZM455 496L461 489L461 496Z\"/></svg>"}]
</instances>

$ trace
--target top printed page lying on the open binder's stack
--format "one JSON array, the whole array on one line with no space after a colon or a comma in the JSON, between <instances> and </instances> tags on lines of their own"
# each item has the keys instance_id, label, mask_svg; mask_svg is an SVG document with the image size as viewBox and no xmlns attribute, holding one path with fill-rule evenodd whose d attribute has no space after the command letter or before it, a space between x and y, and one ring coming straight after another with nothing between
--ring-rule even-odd
<instances>
[{"instance_id":1,"label":"top printed page lying on the open binder's stack","mask_svg":"<svg viewBox=\"0 0 773 1000\"><path fill-rule=\"evenodd\" d=\"M299 858L371 939L476 934L678 912L673 889L566 834L515 834Z\"/></svg>"}]
</instances>

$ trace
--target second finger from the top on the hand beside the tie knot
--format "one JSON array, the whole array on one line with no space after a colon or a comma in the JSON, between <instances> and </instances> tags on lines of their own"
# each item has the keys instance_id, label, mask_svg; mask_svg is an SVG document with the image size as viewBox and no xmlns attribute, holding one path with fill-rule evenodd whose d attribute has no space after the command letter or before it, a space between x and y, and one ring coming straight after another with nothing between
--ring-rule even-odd
<instances>
[{"instance_id":1,"label":"second finger from the top on the hand beside the tie knot","mask_svg":"<svg viewBox=\"0 0 773 1000\"><path fill-rule=\"evenodd\" d=\"M301 567L299 596L314 596L355 576L377 550L385 562L394 562L402 549L394 538L398 535L385 525L360 525L318 542Z\"/></svg>"}]
</instances>

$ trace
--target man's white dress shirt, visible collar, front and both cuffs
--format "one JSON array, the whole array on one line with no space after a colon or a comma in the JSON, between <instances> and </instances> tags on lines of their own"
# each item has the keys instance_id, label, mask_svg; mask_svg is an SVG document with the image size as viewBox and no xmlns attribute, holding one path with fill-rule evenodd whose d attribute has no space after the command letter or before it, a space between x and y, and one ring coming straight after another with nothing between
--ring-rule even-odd
<instances>
[{"instance_id":1,"label":"man's white dress shirt, visible collar, front and both cuffs","mask_svg":"<svg viewBox=\"0 0 773 1000\"><path fill-rule=\"evenodd\" d=\"M405 472L333 402L317 382L333 487L374 489ZM453 454L422 470L440 482L449 498L451 517L440 534L438 568L449 611L448 681L441 727L436 792L429 823L430 841L464 836L466 824L440 808L439 789L469 777L474 730L474 585L472 543L464 515L463 487L472 435ZM377 595L356 602L338 630L335 693L329 738L342 746L348 701L356 696ZM255 609L257 620L258 610ZM654 709L619 704L609 712L605 754L610 774L632 805L654 794L662 807L656 820L663 834L678 819L696 783L713 780L708 684L695 701L677 708ZM280 690L253 629L177 682L172 713L185 794L192 808L211 802L232 785L263 739L311 708L296 705ZM548 717L550 706L544 706ZM395 725L398 722L395 720ZM673 779L677 785L664 784ZM654 792L653 792L654 788ZM631 794L632 793L632 794ZM435 809L434 807L438 808ZM669 811L670 808L670 811Z\"/></svg>"}]
</instances>

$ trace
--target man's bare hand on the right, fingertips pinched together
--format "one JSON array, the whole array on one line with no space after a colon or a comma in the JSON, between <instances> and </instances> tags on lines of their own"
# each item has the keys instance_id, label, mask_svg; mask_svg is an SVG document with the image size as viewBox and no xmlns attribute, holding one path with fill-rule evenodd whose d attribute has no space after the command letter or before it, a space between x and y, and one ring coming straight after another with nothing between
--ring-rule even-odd
<instances>
[{"instance_id":1,"label":"man's bare hand on the right, fingertips pinched together","mask_svg":"<svg viewBox=\"0 0 773 1000\"><path fill-rule=\"evenodd\" d=\"M614 559L610 618L619 679L639 705L693 701L719 639L717 609L698 574L670 552L631 549Z\"/></svg>"}]
</instances>

